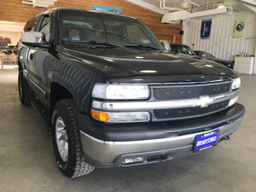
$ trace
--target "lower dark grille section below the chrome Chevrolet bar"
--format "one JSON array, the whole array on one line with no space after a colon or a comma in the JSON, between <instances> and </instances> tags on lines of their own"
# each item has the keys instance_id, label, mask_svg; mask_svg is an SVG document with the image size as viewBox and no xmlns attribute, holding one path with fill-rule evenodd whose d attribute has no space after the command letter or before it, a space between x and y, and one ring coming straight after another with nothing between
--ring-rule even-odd
<instances>
[{"instance_id":1,"label":"lower dark grille section below the chrome Chevrolet bar","mask_svg":"<svg viewBox=\"0 0 256 192\"><path fill-rule=\"evenodd\" d=\"M154 116L157 119L179 119L179 118L192 118L195 116L206 115L214 113L228 107L229 100L224 102L214 103L207 108L168 108L168 109L155 109Z\"/></svg>"}]
</instances>

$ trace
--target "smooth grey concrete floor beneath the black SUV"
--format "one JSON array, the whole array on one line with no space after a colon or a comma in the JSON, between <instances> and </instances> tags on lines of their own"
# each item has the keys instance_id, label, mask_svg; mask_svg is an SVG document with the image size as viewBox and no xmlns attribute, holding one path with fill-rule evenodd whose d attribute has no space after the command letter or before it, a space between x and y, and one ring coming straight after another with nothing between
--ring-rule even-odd
<instances>
[{"instance_id":1,"label":"smooth grey concrete floor beneath the black SUV","mask_svg":"<svg viewBox=\"0 0 256 192\"><path fill-rule=\"evenodd\" d=\"M0 191L256 191L256 75L241 75L241 127L229 142L165 163L96 169L69 179L55 166L50 132L20 105L17 69L0 72Z\"/></svg>"}]
</instances>

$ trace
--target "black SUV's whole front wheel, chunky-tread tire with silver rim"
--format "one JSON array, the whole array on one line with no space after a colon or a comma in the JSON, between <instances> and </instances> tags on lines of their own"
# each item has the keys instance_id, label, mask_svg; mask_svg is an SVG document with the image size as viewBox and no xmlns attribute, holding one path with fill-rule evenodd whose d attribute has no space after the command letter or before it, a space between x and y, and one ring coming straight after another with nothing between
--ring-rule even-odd
<instances>
[{"instance_id":1,"label":"black SUV's whole front wheel, chunky-tread tire with silver rim","mask_svg":"<svg viewBox=\"0 0 256 192\"><path fill-rule=\"evenodd\" d=\"M92 172L82 155L77 110L73 99L57 102L52 114L52 141L57 166L67 177L80 177Z\"/></svg>"}]
</instances>

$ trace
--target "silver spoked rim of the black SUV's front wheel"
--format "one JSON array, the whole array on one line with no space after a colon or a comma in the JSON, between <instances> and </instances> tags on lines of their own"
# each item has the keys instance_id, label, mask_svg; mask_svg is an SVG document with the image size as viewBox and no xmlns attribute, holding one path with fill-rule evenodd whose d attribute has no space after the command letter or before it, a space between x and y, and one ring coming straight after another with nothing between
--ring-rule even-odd
<instances>
[{"instance_id":1,"label":"silver spoked rim of the black SUV's front wheel","mask_svg":"<svg viewBox=\"0 0 256 192\"><path fill-rule=\"evenodd\" d=\"M68 157L68 141L67 141L67 131L65 129L64 121L61 117L56 119L55 123L55 136L56 144L59 150L61 159L67 162Z\"/></svg>"}]
</instances>

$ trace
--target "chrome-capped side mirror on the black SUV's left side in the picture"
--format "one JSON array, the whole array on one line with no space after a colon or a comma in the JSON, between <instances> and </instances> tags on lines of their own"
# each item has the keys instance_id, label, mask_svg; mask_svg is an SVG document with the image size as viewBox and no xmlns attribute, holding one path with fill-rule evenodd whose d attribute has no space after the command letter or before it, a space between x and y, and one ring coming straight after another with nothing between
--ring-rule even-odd
<instances>
[{"instance_id":1,"label":"chrome-capped side mirror on the black SUV's left side in the picture","mask_svg":"<svg viewBox=\"0 0 256 192\"><path fill-rule=\"evenodd\" d=\"M21 43L32 47L49 48L49 44L44 44L44 34L42 32L24 32L21 35Z\"/></svg>"}]
</instances>

